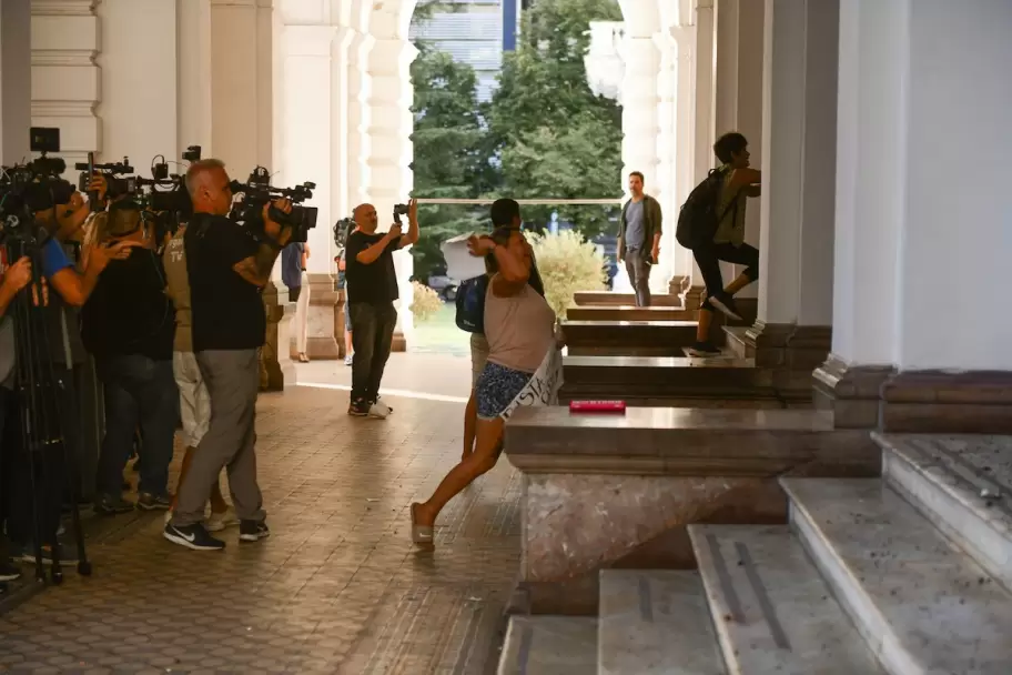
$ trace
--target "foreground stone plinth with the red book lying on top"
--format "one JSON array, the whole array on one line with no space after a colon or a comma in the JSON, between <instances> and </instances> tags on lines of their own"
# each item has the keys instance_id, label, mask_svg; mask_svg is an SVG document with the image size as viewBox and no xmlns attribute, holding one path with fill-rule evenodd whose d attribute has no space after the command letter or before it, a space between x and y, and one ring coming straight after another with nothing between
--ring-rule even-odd
<instances>
[{"instance_id":1,"label":"foreground stone plinth with the red book lying on top","mask_svg":"<svg viewBox=\"0 0 1012 675\"><path fill-rule=\"evenodd\" d=\"M524 473L522 604L596 611L607 567L691 568L691 523L785 522L777 477L873 476L869 435L790 410L524 409L506 426Z\"/></svg>"}]
</instances>

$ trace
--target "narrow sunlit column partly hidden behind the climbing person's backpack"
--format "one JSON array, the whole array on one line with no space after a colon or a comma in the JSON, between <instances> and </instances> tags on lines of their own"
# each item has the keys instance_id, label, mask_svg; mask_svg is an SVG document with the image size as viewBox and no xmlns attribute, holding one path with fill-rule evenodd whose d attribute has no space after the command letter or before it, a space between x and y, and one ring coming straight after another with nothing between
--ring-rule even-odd
<instances>
[{"instance_id":1,"label":"narrow sunlit column partly hidden behind the climbing person's backpack","mask_svg":"<svg viewBox=\"0 0 1012 675\"><path fill-rule=\"evenodd\" d=\"M714 167L714 141L716 140L717 70L715 53L717 49L717 17L714 0L699 0L696 3L695 26L695 63L692 68L692 90L695 92L691 110L692 120L692 184L698 184ZM682 294L686 309L699 309L706 285L699 265L692 261L691 279Z\"/></svg>"}]
</instances>

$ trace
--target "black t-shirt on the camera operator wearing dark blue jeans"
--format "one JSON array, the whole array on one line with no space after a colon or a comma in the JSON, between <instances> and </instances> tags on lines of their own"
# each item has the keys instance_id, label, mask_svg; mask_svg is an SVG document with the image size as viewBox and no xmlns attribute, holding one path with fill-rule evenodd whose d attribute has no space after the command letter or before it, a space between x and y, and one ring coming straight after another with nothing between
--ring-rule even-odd
<instances>
[{"instance_id":1,"label":"black t-shirt on the camera operator wearing dark blue jeans","mask_svg":"<svg viewBox=\"0 0 1012 675\"><path fill-rule=\"evenodd\" d=\"M81 309L81 338L95 356L172 359L175 312L162 261L149 249L111 260Z\"/></svg>"}]
</instances>

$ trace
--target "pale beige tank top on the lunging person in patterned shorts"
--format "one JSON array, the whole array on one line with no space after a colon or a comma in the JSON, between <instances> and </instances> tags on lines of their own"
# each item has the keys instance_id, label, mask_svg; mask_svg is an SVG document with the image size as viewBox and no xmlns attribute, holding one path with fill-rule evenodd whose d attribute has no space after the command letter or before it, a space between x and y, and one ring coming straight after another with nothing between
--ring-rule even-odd
<instances>
[{"instance_id":1,"label":"pale beige tank top on the lunging person in patterned shorts","mask_svg":"<svg viewBox=\"0 0 1012 675\"><path fill-rule=\"evenodd\" d=\"M485 294L488 361L515 371L536 372L555 346L555 312L530 284L509 298L497 296L492 286L489 282Z\"/></svg>"}]
</instances>

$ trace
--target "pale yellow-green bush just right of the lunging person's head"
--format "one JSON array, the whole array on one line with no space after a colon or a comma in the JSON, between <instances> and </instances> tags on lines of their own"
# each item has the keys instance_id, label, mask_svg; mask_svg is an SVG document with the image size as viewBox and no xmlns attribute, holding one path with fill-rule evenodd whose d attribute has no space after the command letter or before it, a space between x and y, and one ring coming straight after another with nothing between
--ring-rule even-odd
<instances>
[{"instance_id":1,"label":"pale yellow-green bush just right of the lunging person's head","mask_svg":"<svg viewBox=\"0 0 1012 675\"><path fill-rule=\"evenodd\" d=\"M565 230L558 234L528 234L538 271L545 283L545 298L559 320L573 304L577 291L606 288L605 258L597 246L579 233Z\"/></svg>"}]
</instances>

